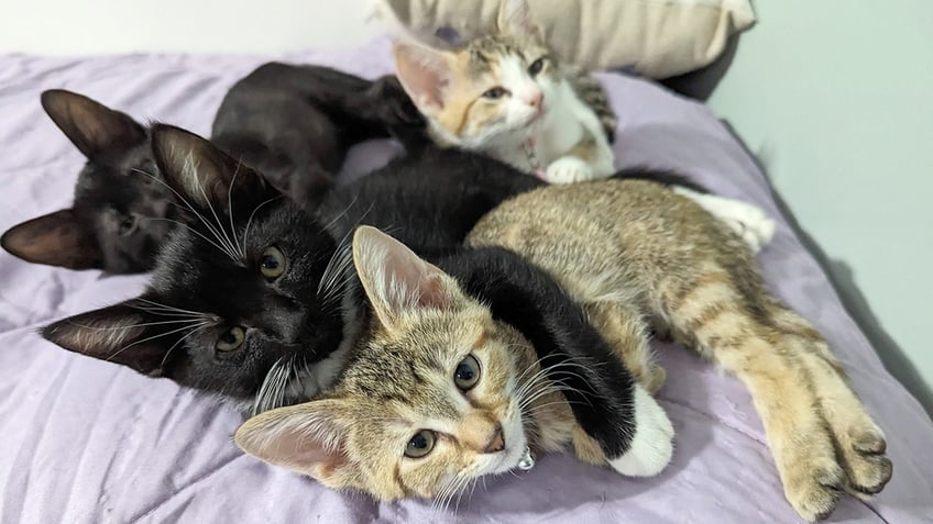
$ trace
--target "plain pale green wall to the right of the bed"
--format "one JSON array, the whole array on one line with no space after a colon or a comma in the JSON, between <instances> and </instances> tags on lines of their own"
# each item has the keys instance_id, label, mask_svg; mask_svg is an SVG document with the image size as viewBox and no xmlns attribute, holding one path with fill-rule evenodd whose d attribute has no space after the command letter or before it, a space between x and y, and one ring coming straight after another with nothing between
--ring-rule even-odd
<instances>
[{"instance_id":1,"label":"plain pale green wall to the right of the bed","mask_svg":"<svg viewBox=\"0 0 933 524\"><path fill-rule=\"evenodd\" d=\"M923 397L920 381L933 384L933 0L755 8L759 23L710 104L802 228L852 268L907 357L882 358Z\"/></svg>"}]
</instances>

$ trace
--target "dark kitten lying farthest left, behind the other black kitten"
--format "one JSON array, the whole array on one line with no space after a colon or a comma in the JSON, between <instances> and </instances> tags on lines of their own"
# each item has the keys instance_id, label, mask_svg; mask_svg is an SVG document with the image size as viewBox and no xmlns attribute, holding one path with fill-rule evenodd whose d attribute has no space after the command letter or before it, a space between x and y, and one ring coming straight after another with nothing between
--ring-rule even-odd
<instances>
[{"instance_id":1,"label":"dark kitten lying farthest left, behind the other black kitten","mask_svg":"<svg viewBox=\"0 0 933 524\"><path fill-rule=\"evenodd\" d=\"M69 269L152 269L177 216L149 129L69 91L46 91L42 104L87 163L72 208L10 228L0 245L25 260ZM369 81L326 67L267 64L231 88L213 142L312 208L351 145L389 133L415 144L420 125L392 77Z\"/></svg>"}]
</instances>

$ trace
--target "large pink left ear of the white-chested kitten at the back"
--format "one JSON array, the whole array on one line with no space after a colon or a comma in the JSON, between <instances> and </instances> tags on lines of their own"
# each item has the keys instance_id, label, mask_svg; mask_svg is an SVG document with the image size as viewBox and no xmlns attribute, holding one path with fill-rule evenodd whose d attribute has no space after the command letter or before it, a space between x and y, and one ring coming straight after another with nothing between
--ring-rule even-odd
<instances>
[{"instance_id":1,"label":"large pink left ear of the white-chested kitten at the back","mask_svg":"<svg viewBox=\"0 0 933 524\"><path fill-rule=\"evenodd\" d=\"M443 109L444 89L453 76L454 56L414 42L393 45L398 81L418 110L436 116Z\"/></svg>"}]
</instances>

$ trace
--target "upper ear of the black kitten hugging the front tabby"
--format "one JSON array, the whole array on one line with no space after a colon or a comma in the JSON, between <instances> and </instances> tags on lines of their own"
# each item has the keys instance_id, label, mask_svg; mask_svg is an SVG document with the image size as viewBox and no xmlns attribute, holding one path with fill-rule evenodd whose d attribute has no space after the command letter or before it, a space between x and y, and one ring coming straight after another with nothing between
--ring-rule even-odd
<instances>
[{"instance_id":1,"label":"upper ear of the black kitten hugging the front tabby","mask_svg":"<svg viewBox=\"0 0 933 524\"><path fill-rule=\"evenodd\" d=\"M154 125L152 150L175 196L198 211L229 214L231 205L254 209L279 194L262 175L183 129Z\"/></svg>"}]
</instances>

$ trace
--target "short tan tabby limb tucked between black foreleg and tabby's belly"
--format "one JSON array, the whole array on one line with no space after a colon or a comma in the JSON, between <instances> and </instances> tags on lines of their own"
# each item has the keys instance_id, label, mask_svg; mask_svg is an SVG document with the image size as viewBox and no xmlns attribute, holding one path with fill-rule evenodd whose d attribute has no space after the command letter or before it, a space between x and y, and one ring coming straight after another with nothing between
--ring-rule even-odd
<instances>
[{"instance_id":1,"label":"short tan tabby limb tucked between black foreleg and tabby's belly","mask_svg":"<svg viewBox=\"0 0 933 524\"><path fill-rule=\"evenodd\" d=\"M654 361L648 345L648 328L641 314L621 302L600 301L583 304L586 316L599 330L625 367L649 393L665 384L665 369Z\"/></svg>"}]
</instances>

